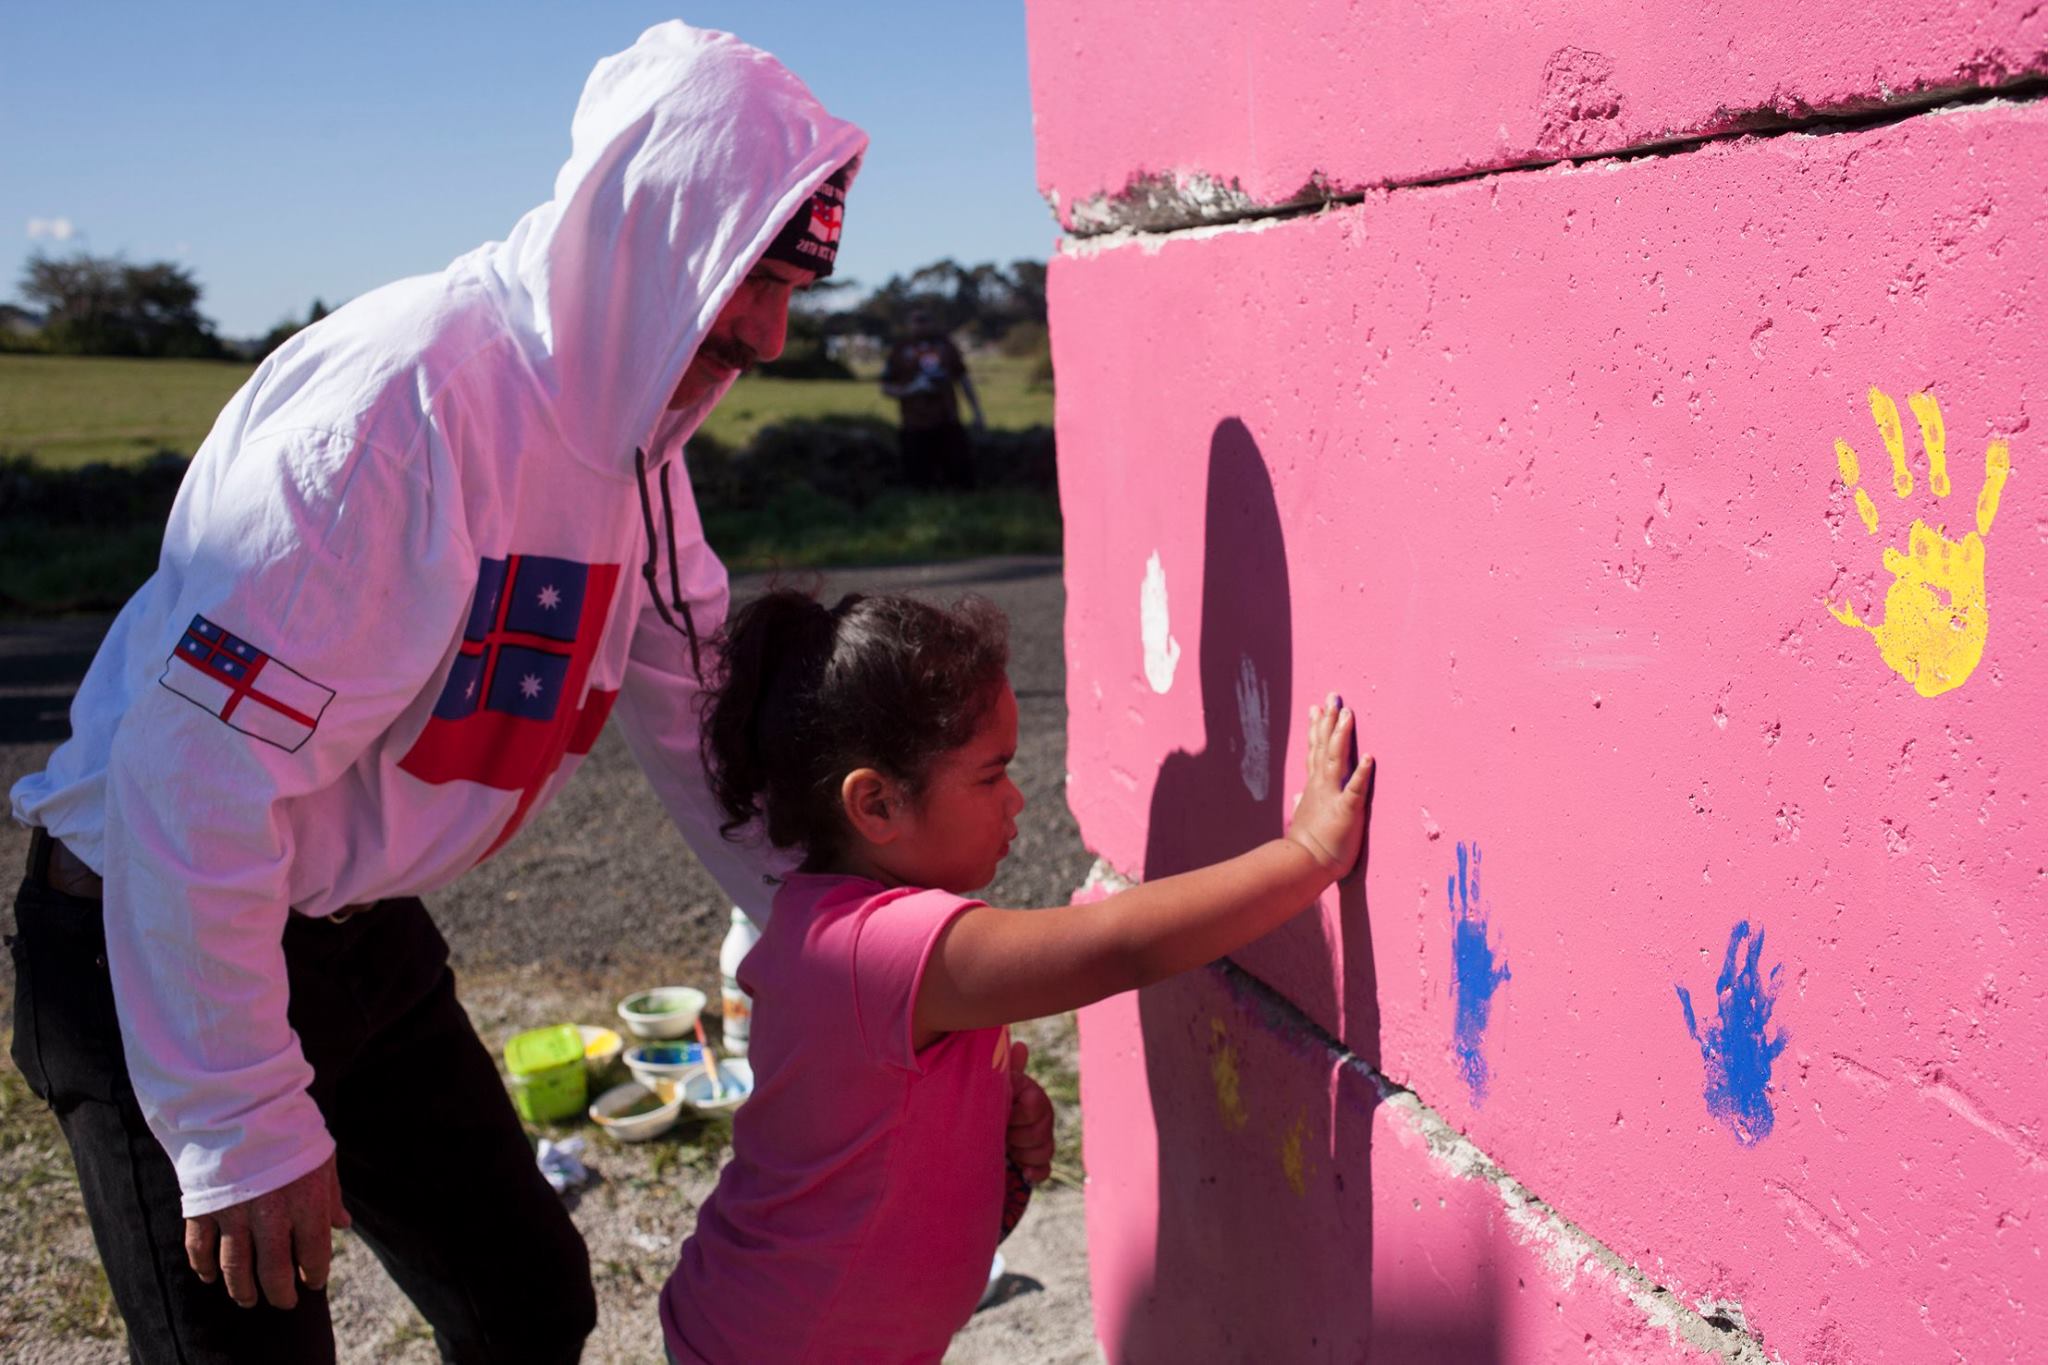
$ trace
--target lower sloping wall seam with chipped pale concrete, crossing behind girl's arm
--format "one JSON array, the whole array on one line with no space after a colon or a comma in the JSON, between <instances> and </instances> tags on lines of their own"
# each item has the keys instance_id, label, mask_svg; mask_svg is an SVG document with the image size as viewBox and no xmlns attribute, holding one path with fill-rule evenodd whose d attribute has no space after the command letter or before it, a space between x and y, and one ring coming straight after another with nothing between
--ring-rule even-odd
<instances>
[{"instance_id":1,"label":"lower sloping wall seam with chipped pale concrete, crossing behind girl's arm","mask_svg":"<svg viewBox=\"0 0 2048 1365\"><path fill-rule=\"evenodd\" d=\"M1114 894L1130 890L1137 884L1137 878L1124 876L1106 857L1098 855L1075 898ZM1430 1107L1421 1095L1389 1078L1346 1048L1341 1040L1300 1013L1292 1001L1270 984L1229 958L1223 958L1212 970L1221 972L1229 988L1253 1003L1264 1015L1286 1023L1319 1046L1333 1064L1346 1066L1370 1081L1386 1111L1421 1140L1446 1175L1489 1185L1501 1201L1501 1212L1516 1240L1524 1246L1534 1246L1561 1283L1571 1283L1581 1267L1589 1267L1595 1273L1612 1277L1616 1289L1642 1314L1642 1322L1655 1330L1663 1330L1673 1347L1688 1347L1729 1365L1784 1365L1784 1357L1767 1353L1763 1340L1749 1330L1741 1304L1712 1297L1702 1300L1698 1306L1686 1304L1671 1289L1653 1281L1612 1246L1536 1195L1481 1150L1477 1142L1458 1132L1450 1119Z\"/></svg>"}]
</instances>

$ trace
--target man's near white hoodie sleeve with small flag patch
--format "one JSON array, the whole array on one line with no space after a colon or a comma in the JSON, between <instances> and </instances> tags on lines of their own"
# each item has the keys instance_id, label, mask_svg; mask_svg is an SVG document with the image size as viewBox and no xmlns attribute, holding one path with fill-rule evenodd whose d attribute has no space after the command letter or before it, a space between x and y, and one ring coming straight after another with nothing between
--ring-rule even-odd
<instances>
[{"instance_id":1,"label":"man's near white hoodie sleeve with small flag patch","mask_svg":"<svg viewBox=\"0 0 2048 1365\"><path fill-rule=\"evenodd\" d=\"M244 436L186 477L164 639L135 641L160 645L133 663L162 677L109 755L102 874L127 1068L188 1218L334 1152L287 1021L293 798L342 780L430 681L473 565L414 467L348 436ZM174 657L209 630L260 661L240 696Z\"/></svg>"}]
</instances>

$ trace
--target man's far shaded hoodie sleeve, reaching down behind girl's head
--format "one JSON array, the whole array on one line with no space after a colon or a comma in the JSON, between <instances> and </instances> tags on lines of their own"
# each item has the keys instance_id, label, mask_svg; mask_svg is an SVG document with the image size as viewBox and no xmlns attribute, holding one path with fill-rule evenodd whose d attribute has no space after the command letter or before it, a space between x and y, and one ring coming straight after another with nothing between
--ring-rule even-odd
<instances>
[{"instance_id":1,"label":"man's far shaded hoodie sleeve, reaching down behind girl's head","mask_svg":"<svg viewBox=\"0 0 2048 1365\"><path fill-rule=\"evenodd\" d=\"M653 475L649 475L653 477ZM655 493L659 501L659 493ZM684 481L676 499L676 555L682 600L690 606L705 675L711 675L711 636L725 624L729 589L725 565L705 544L696 503ZM655 542L655 581L668 591L666 534ZM733 843L719 833L725 814L711 796L698 741L698 702L705 694L690 663L690 641L680 630L682 614L670 608L676 624L662 620L647 585L635 579L643 602L633 630L633 653L625 681L618 688L618 731L633 749L653 790L668 806L670 819L688 841L705 870L717 878L731 902L756 925L768 923L774 900L770 876L788 870L791 857L760 839Z\"/></svg>"}]
</instances>

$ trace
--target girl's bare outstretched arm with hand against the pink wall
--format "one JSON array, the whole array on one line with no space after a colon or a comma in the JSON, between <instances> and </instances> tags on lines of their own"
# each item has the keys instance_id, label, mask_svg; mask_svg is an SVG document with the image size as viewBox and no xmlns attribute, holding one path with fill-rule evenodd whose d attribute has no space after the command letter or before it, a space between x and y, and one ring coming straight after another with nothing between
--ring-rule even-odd
<instances>
[{"instance_id":1,"label":"girl's bare outstretched arm with hand against the pink wall","mask_svg":"<svg viewBox=\"0 0 2048 1365\"><path fill-rule=\"evenodd\" d=\"M1358 862L1372 757L1352 710L1309 708L1309 780L1286 837L1094 905L963 913L940 935L915 1005L915 1046L1057 1015L1202 966L1292 919Z\"/></svg>"}]
</instances>

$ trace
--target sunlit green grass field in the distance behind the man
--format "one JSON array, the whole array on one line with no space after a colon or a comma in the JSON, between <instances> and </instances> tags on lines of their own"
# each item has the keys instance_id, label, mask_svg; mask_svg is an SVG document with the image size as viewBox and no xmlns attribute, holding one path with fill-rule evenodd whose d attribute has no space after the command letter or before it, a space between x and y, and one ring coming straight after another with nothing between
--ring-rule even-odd
<instances>
[{"instance_id":1,"label":"sunlit green grass field in the distance behind the man","mask_svg":"<svg viewBox=\"0 0 2048 1365\"><path fill-rule=\"evenodd\" d=\"M1028 387L1030 360L973 362L989 426L1053 424L1053 395ZM51 467L121 465L154 450L190 454L250 366L215 360L102 360L0 356L0 454L33 454ZM895 417L870 379L741 379L705 424L705 434L743 446L786 417Z\"/></svg>"}]
</instances>

